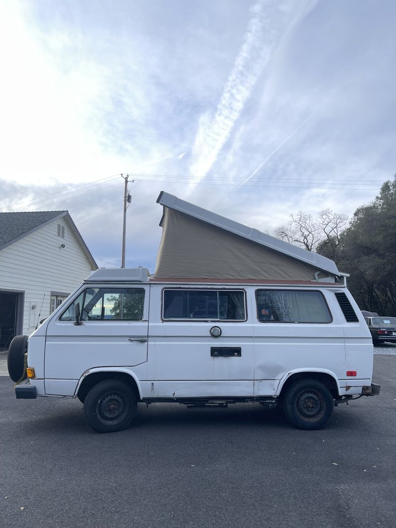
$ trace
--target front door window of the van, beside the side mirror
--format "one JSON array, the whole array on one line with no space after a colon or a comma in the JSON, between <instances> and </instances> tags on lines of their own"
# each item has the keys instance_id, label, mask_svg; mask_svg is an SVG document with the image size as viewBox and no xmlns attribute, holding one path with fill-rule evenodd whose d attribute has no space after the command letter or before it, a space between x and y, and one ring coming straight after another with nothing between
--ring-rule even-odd
<instances>
[{"instance_id":1,"label":"front door window of the van, beside the side mirror","mask_svg":"<svg viewBox=\"0 0 396 528\"><path fill-rule=\"evenodd\" d=\"M143 288L86 288L59 320L74 320L74 306L79 303L81 319L84 321L140 321L143 319L144 294Z\"/></svg>"}]
</instances>

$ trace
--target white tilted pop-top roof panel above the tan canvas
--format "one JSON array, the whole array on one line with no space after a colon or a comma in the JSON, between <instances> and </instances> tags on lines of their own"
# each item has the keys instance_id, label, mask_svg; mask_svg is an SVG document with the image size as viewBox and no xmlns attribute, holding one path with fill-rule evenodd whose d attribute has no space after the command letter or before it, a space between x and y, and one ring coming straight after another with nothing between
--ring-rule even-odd
<instances>
[{"instance_id":1,"label":"white tilted pop-top roof panel above the tan canvas","mask_svg":"<svg viewBox=\"0 0 396 528\"><path fill-rule=\"evenodd\" d=\"M310 266L319 270L340 276L340 272L333 260L323 257L318 253L313 253L306 249L294 246L294 244L289 244L283 240L271 237L271 235L263 233L258 229L250 228L247 225L225 218L220 214L213 213L197 205L181 200L173 194L168 194L162 191L157 198L157 203L166 208L184 213L202 222L224 229L230 233L234 233L244 239L251 240L254 243L261 244L261 246L285 254L288 257L297 259L301 262L306 262Z\"/></svg>"}]
</instances>

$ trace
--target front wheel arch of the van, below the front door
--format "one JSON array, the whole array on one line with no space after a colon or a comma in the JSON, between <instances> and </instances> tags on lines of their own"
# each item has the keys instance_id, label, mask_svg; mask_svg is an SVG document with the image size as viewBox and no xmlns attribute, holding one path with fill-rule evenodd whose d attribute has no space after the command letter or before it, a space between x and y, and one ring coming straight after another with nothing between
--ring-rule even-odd
<instances>
[{"instance_id":1,"label":"front wheel arch of the van, below the front door","mask_svg":"<svg viewBox=\"0 0 396 528\"><path fill-rule=\"evenodd\" d=\"M73 394L73 398L77 397L81 402L84 402L86 395L94 385L100 381L108 379L126 381L131 386L131 388L133 388L137 401L142 400L140 383L135 374L130 372L128 369L117 367L98 367L95 369L86 370L79 379L76 391Z\"/></svg>"}]
</instances>

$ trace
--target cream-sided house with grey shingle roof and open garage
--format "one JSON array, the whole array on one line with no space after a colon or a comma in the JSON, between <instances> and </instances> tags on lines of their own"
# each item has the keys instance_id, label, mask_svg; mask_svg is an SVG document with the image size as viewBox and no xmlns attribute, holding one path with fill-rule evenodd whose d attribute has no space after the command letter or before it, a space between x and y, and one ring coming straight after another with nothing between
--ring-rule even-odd
<instances>
[{"instance_id":1,"label":"cream-sided house with grey shingle roof and open garage","mask_svg":"<svg viewBox=\"0 0 396 528\"><path fill-rule=\"evenodd\" d=\"M0 213L0 348L98 268L68 211Z\"/></svg>"}]
</instances>

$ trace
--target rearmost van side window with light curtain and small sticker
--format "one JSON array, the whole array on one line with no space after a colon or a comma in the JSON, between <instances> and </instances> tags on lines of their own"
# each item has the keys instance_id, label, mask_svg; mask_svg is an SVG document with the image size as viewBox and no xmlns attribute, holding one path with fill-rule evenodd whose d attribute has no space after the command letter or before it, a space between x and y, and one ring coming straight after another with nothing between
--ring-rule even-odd
<instances>
[{"instance_id":1,"label":"rearmost van side window with light curtain and small sticker","mask_svg":"<svg viewBox=\"0 0 396 528\"><path fill-rule=\"evenodd\" d=\"M256 290L260 323L331 323L320 291Z\"/></svg>"}]
</instances>

